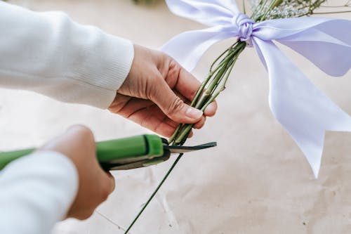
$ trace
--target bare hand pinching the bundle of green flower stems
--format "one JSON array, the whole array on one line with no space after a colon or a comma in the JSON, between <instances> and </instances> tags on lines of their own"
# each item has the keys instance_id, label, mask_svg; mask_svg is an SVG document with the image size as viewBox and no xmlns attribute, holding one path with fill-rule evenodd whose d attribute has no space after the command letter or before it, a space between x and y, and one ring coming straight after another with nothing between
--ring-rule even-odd
<instances>
[{"instance_id":1,"label":"bare hand pinching the bundle of green flower stems","mask_svg":"<svg viewBox=\"0 0 351 234\"><path fill-rule=\"evenodd\" d=\"M187 105L201 84L175 60L143 46L135 45L134 50L131 71L110 105L111 112L168 137L179 123L200 129L206 116L215 115L216 102L204 113Z\"/></svg>"}]
</instances>

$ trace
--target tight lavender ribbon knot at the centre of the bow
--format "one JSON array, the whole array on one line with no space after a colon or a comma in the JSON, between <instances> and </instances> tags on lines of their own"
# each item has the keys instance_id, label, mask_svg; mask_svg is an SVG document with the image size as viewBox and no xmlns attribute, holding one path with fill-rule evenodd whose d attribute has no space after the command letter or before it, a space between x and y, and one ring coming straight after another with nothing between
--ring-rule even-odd
<instances>
[{"instance_id":1,"label":"tight lavender ribbon knot at the centre of the bow","mask_svg":"<svg viewBox=\"0 0 351 234\"><path fill-rule=\"evenodd\" d=\"M252 32L253 32L253 24L255 21L251 20L249 16L239 13L232 18L232 22L237 25L238 37L240 41L246 41L248 46L252 46Z\"/></svg>"}]
</instances>

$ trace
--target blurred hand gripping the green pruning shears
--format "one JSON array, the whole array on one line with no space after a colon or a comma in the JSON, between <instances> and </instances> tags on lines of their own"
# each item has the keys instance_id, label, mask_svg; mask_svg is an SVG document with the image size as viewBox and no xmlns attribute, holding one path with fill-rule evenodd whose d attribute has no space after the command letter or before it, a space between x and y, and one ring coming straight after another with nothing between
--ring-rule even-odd
<instances>
[{"instance_id":1,"label":"blurred hand gripping the green pruning shears","mask_svg":"<svg viewBox=\"0 0 351 234\"><path fill-rule=\"evenodd\" d=\"M67 218L88 219L114 190L114 178L101 169L96 159L93 133L86 127L72 126L39 150L60 152L77 168L79 188Z\"/></svg>"}]
</instances>

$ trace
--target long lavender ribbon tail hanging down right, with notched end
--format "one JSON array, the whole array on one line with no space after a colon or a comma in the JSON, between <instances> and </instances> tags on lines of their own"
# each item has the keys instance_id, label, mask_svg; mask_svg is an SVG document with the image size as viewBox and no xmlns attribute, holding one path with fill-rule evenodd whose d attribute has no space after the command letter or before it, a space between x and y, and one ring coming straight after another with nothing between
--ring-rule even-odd
<instances>
[{"instance_id":1,"label":"long lavender ribbon tail hanging down right, with notched end","mask_svg":"<svg viewBox=\"0 0 351 234\"><path fill-rule=\"evenodd\" d=\"M270 78L270 109L318 176L325 131L351 131L351 117L317 89L272 42L253 37Z\"/></svg>"}]
</instances>

